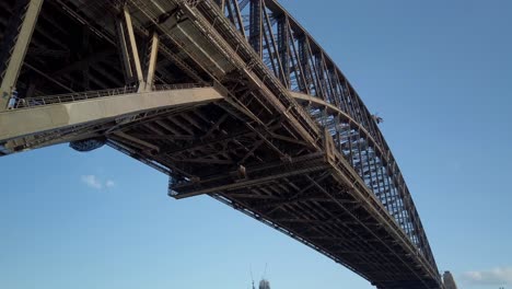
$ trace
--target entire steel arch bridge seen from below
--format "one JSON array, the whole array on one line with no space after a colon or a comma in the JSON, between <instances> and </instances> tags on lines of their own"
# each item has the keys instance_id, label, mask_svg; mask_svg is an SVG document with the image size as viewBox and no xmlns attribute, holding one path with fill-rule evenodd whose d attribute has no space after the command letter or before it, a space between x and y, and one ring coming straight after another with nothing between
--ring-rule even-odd
<instances>
[{"instance_id":1,"label":"entire steel arch bridge seen from below","mask_svg":"<svg viewBox=\"0 0 512 289\"><path fill-rule=\"evenodd\" d=\"M0 43L0 155L107 144L377 288L444 288L375 117L276 0L2 0Z\"/></svg>"}]
</instances>

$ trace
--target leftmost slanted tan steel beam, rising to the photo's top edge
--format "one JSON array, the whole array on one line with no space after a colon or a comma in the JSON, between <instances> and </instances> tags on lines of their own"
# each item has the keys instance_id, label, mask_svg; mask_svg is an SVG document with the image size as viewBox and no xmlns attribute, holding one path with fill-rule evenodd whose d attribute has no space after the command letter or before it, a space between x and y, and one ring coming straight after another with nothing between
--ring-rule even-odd
<instances>
[{"instance_id":1,"label":"leftmost slanted tan steel beam, rising to the photo's top edge","mask_svg":"<svg viewBox=\"0 0 512 289\"><path fill-rule=\"evenodd\" d=\"M5 71L2 77L0 84L0 111L7 108L9 99L12 94L13 89L16 85L18 77L20 76L23 61L25 59L26 50L31 44L32 34L39 16L43 0L30 0L24 15L13 15L22 18L21 26L19 28L18 37L14 37L14 45L5 55ZM14 28L14 27L13 27ZM2 45L10 45L9 43L2 43ZM10 54L10 55L9 55Z\"/></svg>"}]
</instances>

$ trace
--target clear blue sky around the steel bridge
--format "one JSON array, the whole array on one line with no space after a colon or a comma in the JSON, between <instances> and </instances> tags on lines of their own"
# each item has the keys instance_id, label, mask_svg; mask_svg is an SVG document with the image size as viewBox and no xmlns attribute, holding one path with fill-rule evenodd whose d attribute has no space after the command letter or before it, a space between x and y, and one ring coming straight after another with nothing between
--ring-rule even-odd
<instances>
[{"instance_id":1,"label":"clear blue sky around the steel bridge","mask_svg":"<svg viewBox=\"0 0 512 289\"><path fill-rule=\"evenodd\" d=\"M512 2L283 0L338 63L414 195L440 270L512 288ZM356 274L103 148L0 159L0 288L372 288Z\"/></svg>"}]
</instances>

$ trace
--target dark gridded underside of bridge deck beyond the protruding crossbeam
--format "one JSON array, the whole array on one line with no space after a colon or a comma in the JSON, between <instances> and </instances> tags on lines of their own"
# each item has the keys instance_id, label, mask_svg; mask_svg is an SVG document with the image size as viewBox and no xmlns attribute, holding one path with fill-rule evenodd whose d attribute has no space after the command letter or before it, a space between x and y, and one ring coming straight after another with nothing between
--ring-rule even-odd
<instances>
[{"instance_id":1,"label":"dark gridded underside of bridge deck beyond the protruding crossbeam","mask_svg":"<svg viewBox=\"0 0 512 289\"><path fill-rule=\"evenodd\" d=\"M193 184L172 183L171 195L209 194L337 263L364 271L379 288L424 288L424 280L409 267L415 266L414 257L403 259L407 252L375 218L371 196L352 187L354 180L347 174L356 174L339 166L324 154L304 155ZM434 280L428 286L434 288Z\"/></svg>"}]
</instances>

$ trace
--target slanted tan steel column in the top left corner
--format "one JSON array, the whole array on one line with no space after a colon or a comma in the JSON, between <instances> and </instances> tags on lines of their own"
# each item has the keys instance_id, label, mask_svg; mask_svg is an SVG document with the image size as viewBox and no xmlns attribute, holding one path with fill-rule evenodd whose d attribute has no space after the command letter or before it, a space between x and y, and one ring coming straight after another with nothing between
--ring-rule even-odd
<instances>
[{"instance_id":1,"label":"slanted tan steel column in the top left corner","mask_svg":"<svg viewBox=\"0 0 512 289\"><path fill-rule=\"evenodd\" d=\"M0 111L7 108L15 90L43 0L16 1L15 5L0 53Z\"/></svg>"}]
</instances>

